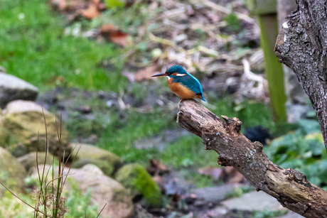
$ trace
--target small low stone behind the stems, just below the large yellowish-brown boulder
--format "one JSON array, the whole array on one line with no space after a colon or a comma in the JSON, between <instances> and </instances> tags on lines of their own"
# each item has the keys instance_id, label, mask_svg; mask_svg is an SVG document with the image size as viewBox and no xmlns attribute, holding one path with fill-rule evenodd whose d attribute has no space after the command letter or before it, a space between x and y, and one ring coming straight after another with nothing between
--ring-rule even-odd
<instances>
[{"instance_id":1,"label":"small low stone behind the stems, just below the large yellowish-brown boulder","mask_svg":"<svg viewBox=\"0 0 327 218\"><path fill-rule=\"evenodd\" d=\"M46 159L45 159L46 157ZM36 151L28 153L20 158L17 158L18 162L21 163L28 171L33 167L36 167ZM55 162L55 165L58 165L58 158L55 158L52 154L47 153L45 156L45 152L38 152L38 165L48 164L52 165L52 162Z\"/></svg>"}]
</instances>

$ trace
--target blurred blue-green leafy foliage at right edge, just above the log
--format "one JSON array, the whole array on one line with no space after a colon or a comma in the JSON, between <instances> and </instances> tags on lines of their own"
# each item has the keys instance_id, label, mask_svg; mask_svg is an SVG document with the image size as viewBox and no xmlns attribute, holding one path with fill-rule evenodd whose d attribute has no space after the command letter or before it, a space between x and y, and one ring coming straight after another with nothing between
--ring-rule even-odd
<instances>
[{"instance_id":1,"label":"blurred blue-green leafy foliage at right edge, just above the log","mask_svg":"<svg viewBox=\"0 0 327 218\"><path fill-rule=\"evenodd\" d=\"M276 138L264 152L277 165L299 170L327 190L327 155L318 121L300 120L299 129Z\"/></svg>"}]
</instances>

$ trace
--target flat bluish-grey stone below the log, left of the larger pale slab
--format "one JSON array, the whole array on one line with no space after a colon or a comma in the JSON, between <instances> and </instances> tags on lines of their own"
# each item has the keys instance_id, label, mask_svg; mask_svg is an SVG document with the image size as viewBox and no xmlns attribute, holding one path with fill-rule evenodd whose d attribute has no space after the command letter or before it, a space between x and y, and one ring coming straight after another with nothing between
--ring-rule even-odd
<instances>
[{"instance_id":1,"label":"flat bluish-grey stone below the log, left of the larger pale slab","mask_svg":"<svg viewBox=\"0 0 327 218\"><path fill-rule=\"evenodd\" d=\"M236 184L227 184L220 185L217 187L200 187L195 188L191 191L192 194L196 196L196 200L194 202L195 206L202 205L213 205L215 203L221 202L225 200L225 196L229 193L232 193L235 187L239 185Z\"/></svg>"}]
</instances>

